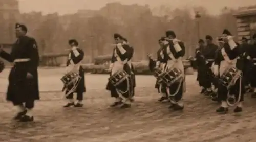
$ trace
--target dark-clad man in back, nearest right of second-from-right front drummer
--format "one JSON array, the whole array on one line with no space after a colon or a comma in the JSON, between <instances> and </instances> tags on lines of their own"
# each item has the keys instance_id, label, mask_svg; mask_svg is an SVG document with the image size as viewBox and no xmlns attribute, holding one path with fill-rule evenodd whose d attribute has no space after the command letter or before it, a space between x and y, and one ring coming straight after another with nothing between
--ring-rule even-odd
<instances>
[{"instance_id":1,"label":"dark-clad man in back, nearest right of second-from-right front drummer","mask_svg":"<svg viewBox=\"0 0 256 142\"><path fill-rule=\"evenodd\" d=\"M203 51L205 50L205 43L203 39L200 39L198 41L199 47L196 48L196 62L197 62L197 81L199 82L199 86L203 87L200 93L204 93L206 91L206 88L204 88L204 77L205 77L205 60L202 56Z\"/></svg>"}]
</instances>

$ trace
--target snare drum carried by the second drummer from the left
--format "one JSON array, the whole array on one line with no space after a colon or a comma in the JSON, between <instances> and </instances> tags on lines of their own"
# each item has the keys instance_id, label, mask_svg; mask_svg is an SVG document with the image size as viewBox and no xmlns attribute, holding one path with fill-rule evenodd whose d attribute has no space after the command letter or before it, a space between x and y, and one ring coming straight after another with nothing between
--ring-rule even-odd
<instances>
[{"instance_id":1,"label":"snare drum carried by the second drummer from the left","mask_svg":"<svg viewBox=\"0 0 256 142\"><path fill-rule=\"evenodd\" d=\"M124 70L119 70L109 78L109 81L114 86L117 86L121 84L128 77L129 75Z\"/></svg>"}]
</instances>

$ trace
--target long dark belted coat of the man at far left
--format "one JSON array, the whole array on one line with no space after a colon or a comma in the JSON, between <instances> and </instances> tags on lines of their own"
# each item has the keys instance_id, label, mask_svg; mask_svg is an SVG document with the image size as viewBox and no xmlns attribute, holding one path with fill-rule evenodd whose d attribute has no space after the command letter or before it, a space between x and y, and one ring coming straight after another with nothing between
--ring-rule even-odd
<instances>
[{"instance_id":1,"label":"long dark belted coat of the man at far left","mask_svg":"<svg viewBox=\"0 0 256 142\"><path fill-rule=\"evenodd\" d=\"M10 54L3 51L0 56L14 63L9 75L7 100L15 103L38 100L39 55L35 39L28 36L20 37L13 44ZM32 74L33 78L28 79L27 73Z\"/></svg>"}]
</instances>

